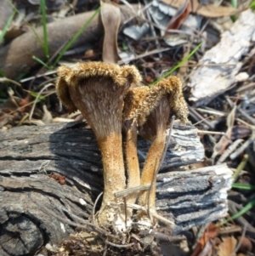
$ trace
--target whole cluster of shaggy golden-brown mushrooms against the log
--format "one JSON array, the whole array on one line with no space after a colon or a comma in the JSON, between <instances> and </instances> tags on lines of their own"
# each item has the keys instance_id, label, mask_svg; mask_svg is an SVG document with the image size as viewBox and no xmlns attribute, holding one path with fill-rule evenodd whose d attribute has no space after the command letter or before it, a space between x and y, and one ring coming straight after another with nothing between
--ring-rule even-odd
<instances>
[{"instance_id":1,"label":"whole cluster of shaggy golden-brown mushrooms against the log","mask_svg":"<svg viewBox=\"0 0 255 256\"><path fill-rule=\"evenodd\" d=\"M141 77L133 65L101 62L60 66L56 85L59 99L72 111L80 110L93 129L102 154L104 196L99 210L99 223L122 219L108 202L116 202L114 193L125 188L148 185L161 162L169 116L187 122L187 107L182 85L177 77L162 79L154 87L139 86ZM126 163L122 153L122 128L126 132ZM153 143L148 151L140 177L137 134ZM134 203L138 195L128 196ZM150 191L150 209L155 210L156 182ZM139 204L148 206L148 192L139 195ZM116 217L116 215L119 215ZM116 222L119 222L116 220Z\"/></svg>"}]
</instances>

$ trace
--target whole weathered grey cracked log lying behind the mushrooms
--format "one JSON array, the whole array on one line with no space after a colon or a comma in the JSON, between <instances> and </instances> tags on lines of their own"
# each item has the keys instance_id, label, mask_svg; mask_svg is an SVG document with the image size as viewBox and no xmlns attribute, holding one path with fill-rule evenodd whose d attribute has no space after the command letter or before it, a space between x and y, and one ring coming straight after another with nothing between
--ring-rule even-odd
<instances>
[{"instance_id":1,"label":"whole weathered grey cracked log lying behind the mushrooms","mask_svg":"<svg viewBox=\"0 0 255 256\"><path fill-rule=\"evenodd\" d=\"M92 130L83 127L83 122L70 122L0 134L0 255L33 254L74 231L43 208L77 224L92 213L103 189L102 163ZM141 167L149 146L139 139ZM175 122L161 171L200 162L203 156L195 128ZM65 176L65 185L48 174ZM175 223L175 233L223 217L230 176L226 166L161 173L156 207Z\"/></svg>"}]
</instances>

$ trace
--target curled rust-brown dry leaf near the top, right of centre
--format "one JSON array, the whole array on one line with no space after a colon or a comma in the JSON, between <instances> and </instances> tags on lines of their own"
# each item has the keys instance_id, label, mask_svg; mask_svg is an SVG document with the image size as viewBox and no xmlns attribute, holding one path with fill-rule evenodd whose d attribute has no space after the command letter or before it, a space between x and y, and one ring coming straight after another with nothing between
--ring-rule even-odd
<instances>
[{"instance_id":1,"label":"curled rust-brown dry leaf near the top, right of centre","mask_svg":"<svg viewBox=\"0 0 255 256\"><path fill-rule=\"evenodd\" d=\"M184 23L184 20L186 20L186 18L189 16L190 11L191 11L190 1L188 0L179 7L176 14L169 21L167 25L167 30L168 29L178 30L178 28Z\"/></svg>"}]
</instances>

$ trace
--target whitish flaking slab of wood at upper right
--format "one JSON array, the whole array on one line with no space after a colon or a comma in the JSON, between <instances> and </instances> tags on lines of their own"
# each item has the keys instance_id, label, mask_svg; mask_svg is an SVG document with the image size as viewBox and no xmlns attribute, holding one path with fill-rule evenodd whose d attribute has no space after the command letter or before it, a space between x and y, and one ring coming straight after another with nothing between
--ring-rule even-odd
<instances>
[{"instance_id":1,"label":"whitish flaking slab of wood at upper right","mask_svg":"<svg viewBox=\"0 0 255 256\"><path fill-rule=\"evenodd\" d=\"M199 60L199 66L191 73L190 100L196 106L206 105L218 94L240 81L247 74L241 70L241 57L255 43L255 14L251 9L242 12L229 31L224 31L220 42ZM223 54L224 53L224 54Z\"/></svg>"}]
</instances>

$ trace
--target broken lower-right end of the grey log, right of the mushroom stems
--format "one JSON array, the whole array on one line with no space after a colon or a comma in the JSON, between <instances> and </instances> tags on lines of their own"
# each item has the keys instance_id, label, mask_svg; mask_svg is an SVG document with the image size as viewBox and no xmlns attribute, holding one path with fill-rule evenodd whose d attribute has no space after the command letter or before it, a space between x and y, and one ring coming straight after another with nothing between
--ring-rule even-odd
<instances>
[{"instance_id":1,"label":"broken lower-right end of the grey log, right of the mushroom stems","mask_svg":"<svg viewBox=\"0 0 255 256\"><path fill-rule=\"evenodd\" d=\"M232 174L225 164L158 174L156 208L176 224L173 232L224 217Z\"/></svg>"}]
</instances>

